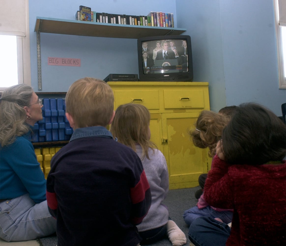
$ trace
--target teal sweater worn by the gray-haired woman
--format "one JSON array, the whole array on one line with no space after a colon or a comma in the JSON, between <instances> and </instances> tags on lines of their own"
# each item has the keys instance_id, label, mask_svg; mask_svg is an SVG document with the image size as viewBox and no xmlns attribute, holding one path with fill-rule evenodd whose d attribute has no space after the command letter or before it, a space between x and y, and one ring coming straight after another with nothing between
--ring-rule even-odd
<instances>
[{"instance_id":1,"label":"teal sweater worn by the gray-haired woman","mask_svg":"<svg viewBox=\"0 0 286 246\"><path fill-rule=\"evenodd\" d=\"M30 138L28 132L0 149L0 199L29 193L35 203L46 200L46 180Z\"/></svg>"}]
</instances>

